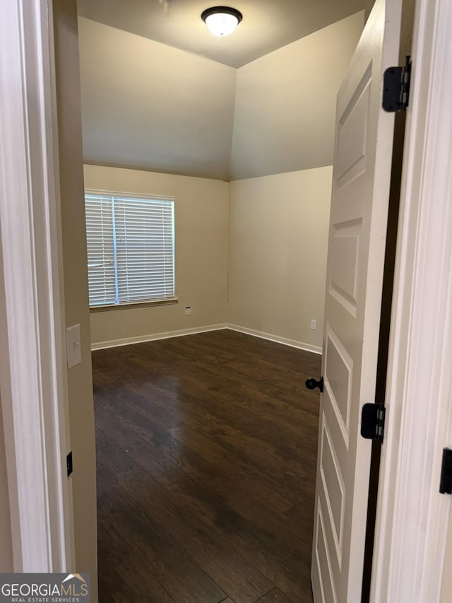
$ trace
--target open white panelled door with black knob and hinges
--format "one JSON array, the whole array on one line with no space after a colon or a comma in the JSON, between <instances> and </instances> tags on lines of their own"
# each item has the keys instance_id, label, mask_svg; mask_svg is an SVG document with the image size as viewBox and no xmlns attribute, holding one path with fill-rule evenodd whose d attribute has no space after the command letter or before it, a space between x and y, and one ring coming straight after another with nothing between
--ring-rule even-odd
<instances>
[{"instance_id":1,"label":"open white panelled door with black knob and hinges","mask_svg":"<svg viewBox=\"0 0 452 603\"><path fill-rule=\"evenodd\" d=\"M338 92L311 579L314 601L359 603L393 114L382 74L398 64L401 0L376 0Z\"/></svg>"}]
</instances>

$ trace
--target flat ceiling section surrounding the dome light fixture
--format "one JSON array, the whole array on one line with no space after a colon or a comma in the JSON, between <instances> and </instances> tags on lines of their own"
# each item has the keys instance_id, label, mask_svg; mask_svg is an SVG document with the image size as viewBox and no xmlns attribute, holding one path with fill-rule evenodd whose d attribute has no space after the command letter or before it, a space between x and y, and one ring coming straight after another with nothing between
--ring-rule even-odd
<instances>
[{"instance_id":1,"label":"flat ceiling section surrounding the dome light fixture","mask_svg":"<svg viewBox=\"0 0 452 603\"><path fill-rule=\"evenodd\" d=\"M206 0L78 0L78 13L149 40L232 67L367 8L369 0L234 0L243 21L229 37L213 36L201 21Z\"/></svg>"}]
</instances>

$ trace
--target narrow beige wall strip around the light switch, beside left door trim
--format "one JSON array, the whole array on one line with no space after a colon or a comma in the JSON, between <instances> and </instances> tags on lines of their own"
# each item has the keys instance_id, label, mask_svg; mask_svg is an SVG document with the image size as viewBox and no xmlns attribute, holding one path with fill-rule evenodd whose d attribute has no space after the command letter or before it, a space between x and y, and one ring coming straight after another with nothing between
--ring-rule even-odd
<instances>
[{"instance_id":1,"label":"narrow beige wall strip around the light switch, beside left door trim","mask_svg":"<svg viewBox=\"0 0 452 603\"><path fill-rule=\"evenodd\" d=\"M76 548L76 567L68 569L91 574L96 602L95 438L76 0L54 0L53 6L66 325L81 324L82 352L82 363L68 373Z\"/></svg>"}]
</instances>

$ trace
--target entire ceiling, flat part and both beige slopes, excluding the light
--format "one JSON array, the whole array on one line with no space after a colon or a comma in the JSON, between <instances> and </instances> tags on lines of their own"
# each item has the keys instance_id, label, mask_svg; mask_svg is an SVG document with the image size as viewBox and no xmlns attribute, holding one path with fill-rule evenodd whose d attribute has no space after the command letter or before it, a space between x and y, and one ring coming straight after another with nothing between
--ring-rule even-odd
<instances>
[{"instance_id":1,"label":"entire ceiling, flat part and both beige slopes, excluding the light","mask_svg":"<svg viewBox=\"0 0 452 603\"><path fill-rule=\"evenodd\" d=\"M237 180L330 165L335 96L372 0L78 0L85 163ZM364 11L363 8L366 10Z\"/></svg>"}]
</instances>

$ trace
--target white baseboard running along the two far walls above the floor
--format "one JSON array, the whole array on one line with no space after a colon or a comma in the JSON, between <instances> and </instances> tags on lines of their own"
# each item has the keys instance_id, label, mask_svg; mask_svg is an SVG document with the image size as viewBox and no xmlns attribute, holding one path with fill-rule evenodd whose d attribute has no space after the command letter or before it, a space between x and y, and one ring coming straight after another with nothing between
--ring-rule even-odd
<instances>
[{"instance_id":1,"label":"white baseboard running along the two far walls above the floor","mask_svg":"<svg viewBox=\"0 0 452 603\"><path fill-rule=\"evenodd\" d=\"M167 331L164 333L154 333L152 335L126 337L126 339L112 339L112 341L98 341L95 344L91 344L91 350L94 351L107 348L117 348L119 346L131 346L133 344L143 344L145 341L157 341L157 339L182 337L184 335L194 335L196 333L206 333L208 331L220 331L221 329L238 331L239 333L260 337L261 339L268 339L268 341L275 341L277 344L291 346L292 348L298 348L300 350L313 352L315 354L322 353L322 349L319 346L311 346L311 344L304 344L303 341L295 341L295 339L287 339L287 337L279 337L278 335L271 335L270 333L263 333L261 331L255 331L254 329L247 329L246 327L239 327L238 324L229 324L227 322L223 324L210 324L208 327L195 327L194 329L181 329L180 331Z\"/></svg>"}]
</instances>

